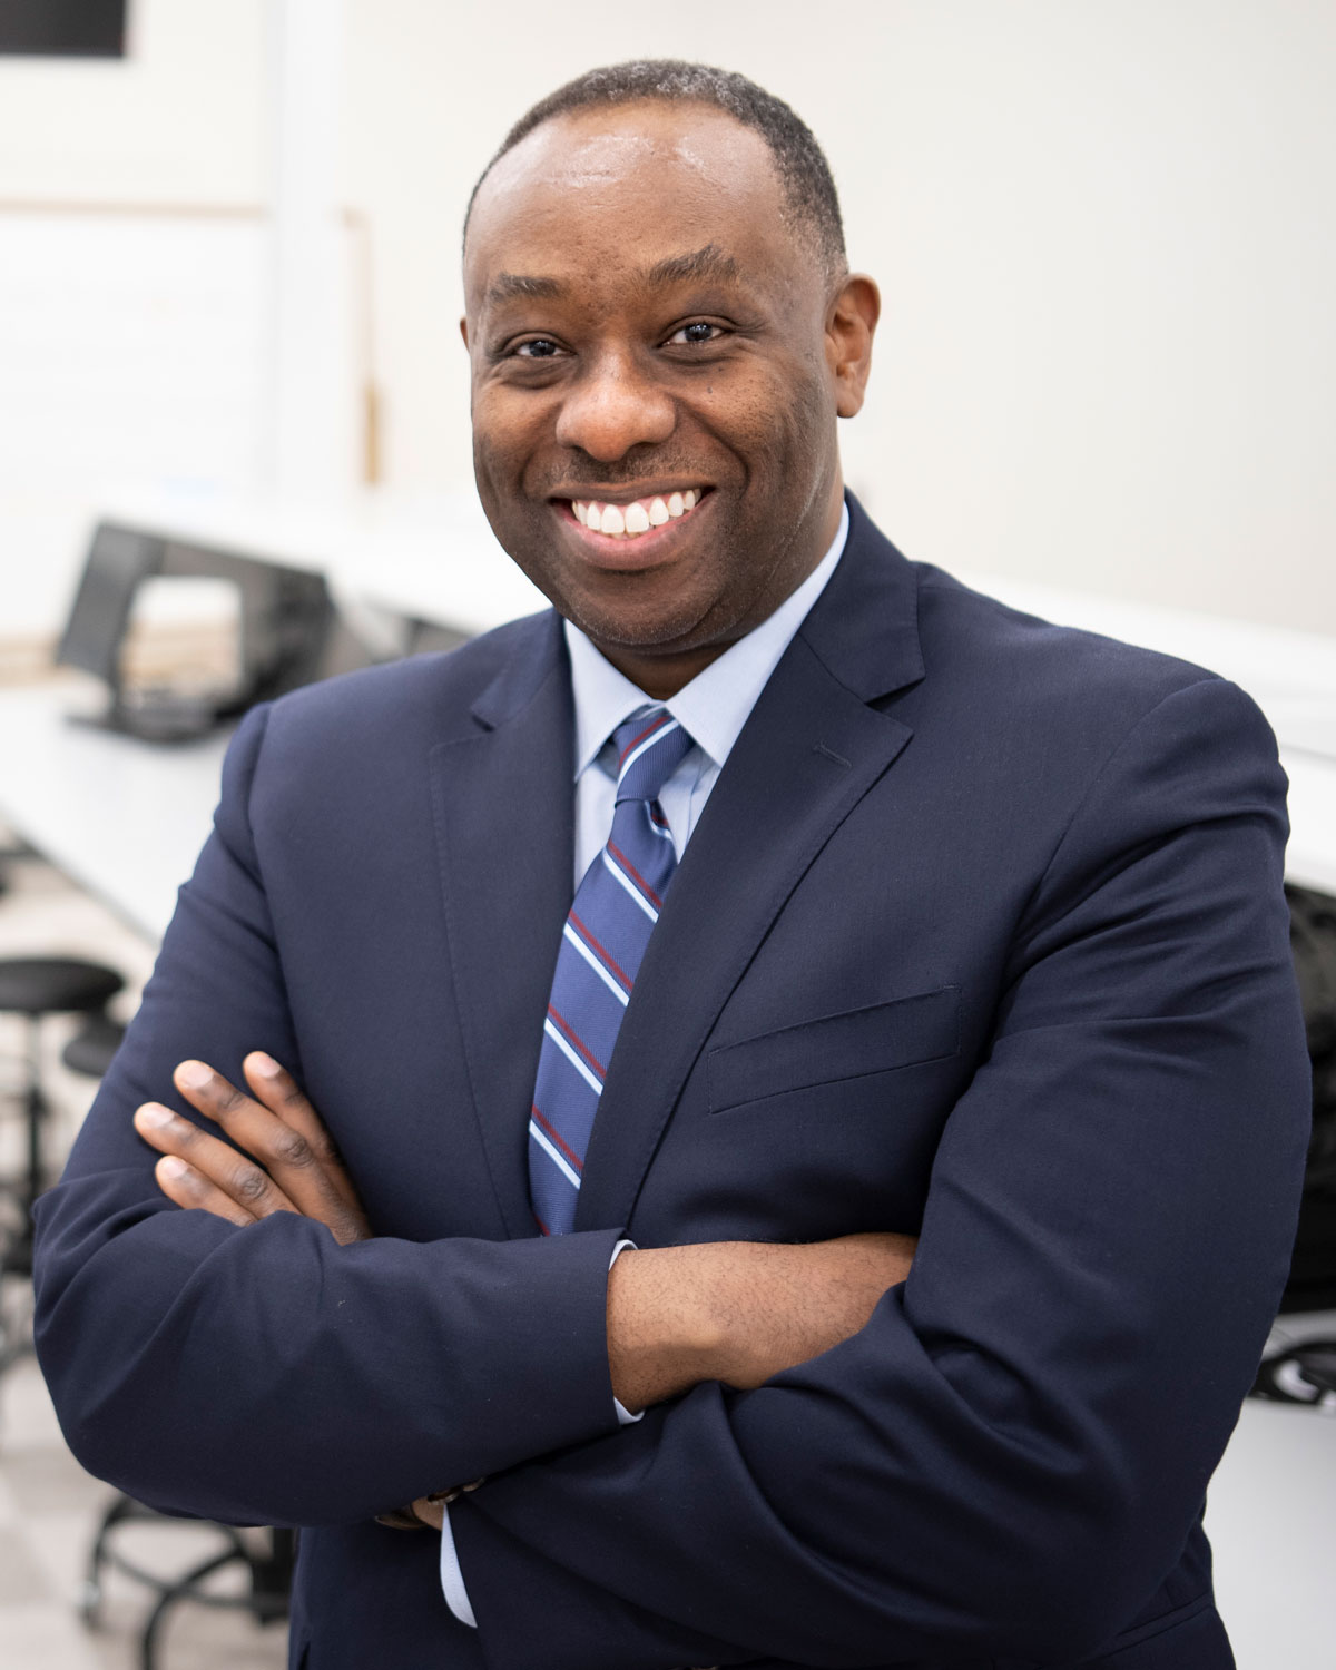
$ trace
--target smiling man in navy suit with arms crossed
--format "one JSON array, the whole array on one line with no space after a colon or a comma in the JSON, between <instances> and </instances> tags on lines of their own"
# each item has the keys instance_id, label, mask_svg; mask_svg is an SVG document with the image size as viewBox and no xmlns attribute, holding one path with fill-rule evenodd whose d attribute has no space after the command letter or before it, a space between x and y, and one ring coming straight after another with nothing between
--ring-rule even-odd
<instances>
[{"instance_id":1,"label":"smiling man in navy suit with arms crossed","mask_svg":"<svg viewBox=\"0 0 1336 1670\"><path fill-rule=\"evenodd\" d=\"M242 726L42 1202L75 1453L307 1526L307 1670L1229 1665L1308 1107L1269 731L843 496L877 292L740 77L554 94L464 271L559 613Z\"/></svg>"}]
</instances>

